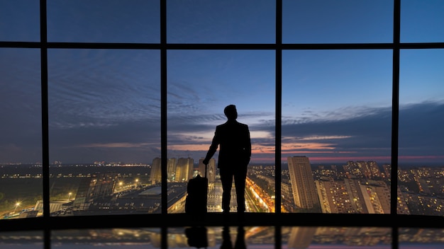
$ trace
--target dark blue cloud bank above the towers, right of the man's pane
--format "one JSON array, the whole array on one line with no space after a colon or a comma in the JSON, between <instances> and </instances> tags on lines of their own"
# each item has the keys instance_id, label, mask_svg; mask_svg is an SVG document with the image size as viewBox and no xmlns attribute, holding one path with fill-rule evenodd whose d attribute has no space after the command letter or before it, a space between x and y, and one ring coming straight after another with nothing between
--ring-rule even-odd
<instances>
[{"instance_id":1,"label":"dark blue cloud bank above the towers, right of the man's pane","mask_svg":"<svg viewBox=\"0 0 444 249\"><path fill-rule=\"evenodd\" d=\"M304 141L305 147L299 144L302 148L299 150L301 154L318 153L317 149L310 149L307 144L319 141L322 144L316 144L319 146L318 149L329 149L324 152L326 157L329 153L350 154L350 158L358 155L364 158L384 158L391 155L391 108L349 108L343 109L343 112L345 112L344 115L338 115L340 112L334 111L321 115L321 118L316 115L296 120L283 120L284 148L292 148L292 146L298 148L298 144L291 143ZM442 103L401 106L399 110L400 160L406 158L404 156L407 155L443 155L444 132L440 127L444 127ZM286 146L287 143L289 146ZM296 151L292 153L294 152Z\"/></svg>"}]
</instances>

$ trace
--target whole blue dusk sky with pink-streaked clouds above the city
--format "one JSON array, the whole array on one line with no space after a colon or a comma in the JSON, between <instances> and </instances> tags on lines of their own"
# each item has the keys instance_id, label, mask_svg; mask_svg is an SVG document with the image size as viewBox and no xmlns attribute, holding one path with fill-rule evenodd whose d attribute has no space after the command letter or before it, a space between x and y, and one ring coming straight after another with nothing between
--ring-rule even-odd
<instances>
[{"instance_id":1,"label":"whole blue dusk sky with pink-streaked clouds above the city","mask_svg":"<svg viewBox=\"0 0 444 249\"><path fill-rule=\"evenodd\" d=\"M158 1L47 1L49 42L160 42ZM393 3L282 2L284 43L392 42ZM40 40L38 1L1 1L0 41ZM443 42L444 1L401 1L401 42ZM167 1L167 42L274 43L270 0ZM399 161L444 164L444 49L401 50ZM167 51L169 157L206 154L223 108L274 163L273 50ZM0 47L0 163L42 161L40 50ZM50 162L160 156L160 51L48 50ZM389 163L392 50L282 52L282 162Z\"/></svg>"}]
</instances>

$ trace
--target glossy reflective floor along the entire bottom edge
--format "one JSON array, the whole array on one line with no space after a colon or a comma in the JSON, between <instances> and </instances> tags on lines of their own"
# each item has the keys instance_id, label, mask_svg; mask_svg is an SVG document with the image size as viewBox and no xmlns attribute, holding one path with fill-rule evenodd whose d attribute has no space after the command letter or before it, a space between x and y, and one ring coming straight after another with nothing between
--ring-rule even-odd
<instances>
[{"instance_id":1,"label":"glossy reflective floor along the entire bottom edge","mask_svg":"<svg viewBox=\"0 0 444 249\"><path fill-rule=\"evenodd\" d=\"M0 233L0 248L44 248L43 231ZM392 248L377 227L195 226L51 231L50 248ZM162 244L164 241L164 244ZM166 244L165 244L166 242ZM400 228L398 248L444 248L442 228Z\"/></svg>"}]
</instances>

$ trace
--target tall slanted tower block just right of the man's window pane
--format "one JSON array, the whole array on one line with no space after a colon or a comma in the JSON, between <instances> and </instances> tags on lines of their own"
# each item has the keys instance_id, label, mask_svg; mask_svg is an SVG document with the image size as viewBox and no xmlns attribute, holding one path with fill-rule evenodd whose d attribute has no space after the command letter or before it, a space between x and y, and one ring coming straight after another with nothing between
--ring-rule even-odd
<instances>
[{"instance_id":1,"label":"tall slanted tower block just right of the man's window pane","mask_svg":"<svg viewBox=\"0 0 444 249\"><path fill-rule=\"evenodd\" d=\"M302 209L319 208L319 198L309 158L306 156L289 156L287 161L294 204Z\"/></svg>"}]
</instances>

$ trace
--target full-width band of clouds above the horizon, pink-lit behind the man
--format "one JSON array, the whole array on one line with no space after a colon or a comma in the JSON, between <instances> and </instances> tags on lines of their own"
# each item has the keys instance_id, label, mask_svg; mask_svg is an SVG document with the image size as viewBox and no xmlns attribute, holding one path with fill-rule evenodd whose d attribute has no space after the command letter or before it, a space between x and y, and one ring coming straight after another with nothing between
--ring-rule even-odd
<instances>
[{"instance_id":1,"label":"full-width band of clouds above the horizon, pink-lit behind the man","mask_svg":"<svg viewBox=\"0 0 444 249\"><path fill-rule=\"evenodd\" d=\"M309 156L325 158L390 158L392 153L391 108L344 108L344 115L314 113L282 119L282 157ZM6 110L4 110L6 112ZM359 115L350 115L359 112ZM332 113L338 113L338 110ZM65 113L66 114L66 113ZM63 115L63 114L61 114ZM129 114L128 114L129 115ZM261 116L262 115L262 116ZM53 160L114 160L150 162L160 156L160 115L138 118L91 117L60 119L50 126L50 158ZM275 126L270 113L245 114L243 120L260 120L250 125L252 161L274 161ZM68 121L71 120L71 121ZM223 114L184 112L167 119L167 146L175 155L201 158L209 148L216 125L225 122ZM70 122L73 122L70 125ZM41 128L20 122L1 122L4 133L1 161L40 161ZM38 122L37 122L38 123ZM417 103L399 110L399 160L443 161L444 104ZM16 129L20 128L20 129ZM23 130L24 132L20 132ZM9 151L9 152L8 152ZM9 153L9 154L7 154ZM36 159L21 158L33 155ZM13 156L13 159L11 158ZM217 156L217 155L216 155ZM18 159L21 158L21 159ZM81 158L81 159L79 159ZM324 159L322 159L324 158ZM314 159L313 159L314 160ZM385 160L385 159L384 159Z\"/></svg>"}]
</instances>

